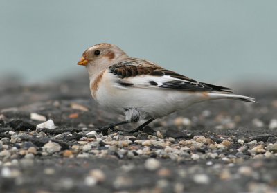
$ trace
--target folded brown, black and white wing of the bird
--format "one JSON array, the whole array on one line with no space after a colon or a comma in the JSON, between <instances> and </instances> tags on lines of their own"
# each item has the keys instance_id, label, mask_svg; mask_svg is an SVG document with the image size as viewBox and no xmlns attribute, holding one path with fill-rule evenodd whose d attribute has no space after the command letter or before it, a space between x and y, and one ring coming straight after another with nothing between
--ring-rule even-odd
<instances>
[{"instance_id":1,"label":"folded brown, black and white wing of the bird","mask_svg":"<svg viewBox=\"0 0 277 193\"><path fill-rule=\"evenodd\" d=\"M147 60L129 58L109 67L120 86L186 91L231 92L229 88L198 82L174 71L168 71Z\"/></svg>"}]
</instances>

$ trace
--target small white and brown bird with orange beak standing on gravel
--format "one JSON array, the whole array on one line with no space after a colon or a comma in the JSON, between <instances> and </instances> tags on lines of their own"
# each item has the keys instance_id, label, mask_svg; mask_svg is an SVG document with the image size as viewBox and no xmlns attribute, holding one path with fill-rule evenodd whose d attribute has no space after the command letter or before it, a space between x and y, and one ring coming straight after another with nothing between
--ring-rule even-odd
<instances>
[{"instance_id":1,"label":"small white and brown bird with orange beak standing on gravel","mask_svg":"<svg viewBox=\"0 0 277 193\"><path fill-rule=\"evenodd\" d=\"M142 129L156 118L185 109L191 104L214 99L255 102L253 98L231 93L231 89L190 79L145 59L129 57L113 44L96 44L78 62L89 73L91 95L100 105L125 114L116 125L142 122Z\"/></svg>"}]
</instances>

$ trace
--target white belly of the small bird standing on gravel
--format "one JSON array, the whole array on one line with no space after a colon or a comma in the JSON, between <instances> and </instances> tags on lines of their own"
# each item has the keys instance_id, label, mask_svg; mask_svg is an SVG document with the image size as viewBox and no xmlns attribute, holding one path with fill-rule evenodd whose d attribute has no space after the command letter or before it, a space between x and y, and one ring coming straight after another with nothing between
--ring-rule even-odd
<instances>
[{"instance_id":1,"label":"white belly of the small bird standing on gravel","mask_svg":"<svg viewBox=\"0 0 277 193\"><path fill-rule=\"evenodd\" d=\"M141 89L134 87L118 88L105 84L98 87L94 99L103 107L124 113L125 109L136 108L160 118L185 109L195 102L204 100L202 94L170 89Z\"/></svg>"}]
</instances>

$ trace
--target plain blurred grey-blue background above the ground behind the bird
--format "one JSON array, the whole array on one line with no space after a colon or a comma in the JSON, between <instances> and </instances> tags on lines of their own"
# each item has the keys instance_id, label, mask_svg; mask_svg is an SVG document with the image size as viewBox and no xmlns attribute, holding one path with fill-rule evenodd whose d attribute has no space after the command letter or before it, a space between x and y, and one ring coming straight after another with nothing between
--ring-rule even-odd
<instances>
[{"instance_id":1,"label":"plain blurred grey-blue background above the ground behind the bird","mask_svg":"<svg viewBox=\"0 0 277 193\"><path fill-rule=\"evenodd\" d=\"M277 1L0 1L0 75L26 83L83 73L107 42L202 82L276 81Z\"/></svg>"}]
</instances>

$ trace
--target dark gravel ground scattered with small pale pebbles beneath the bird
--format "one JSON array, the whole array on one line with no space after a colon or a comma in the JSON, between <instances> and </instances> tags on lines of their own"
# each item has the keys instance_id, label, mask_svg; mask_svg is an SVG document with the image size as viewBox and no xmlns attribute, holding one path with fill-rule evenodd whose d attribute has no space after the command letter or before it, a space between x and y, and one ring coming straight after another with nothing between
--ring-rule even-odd
<instances>
[{"instance_id":1,"label":"dark gravel ground scattered with small pale pebbles beneath the bird","mask_svg":"<svg viewBox=\"0 0 277 193\"><path fill-rule=\"evenodd\" d=\"M87 77L6 83L0 192L277 192L277 89L240 92L257 104L204 102L134 134L100 134L123 116L93 102Z\"/></svg>"}]
</instances>

